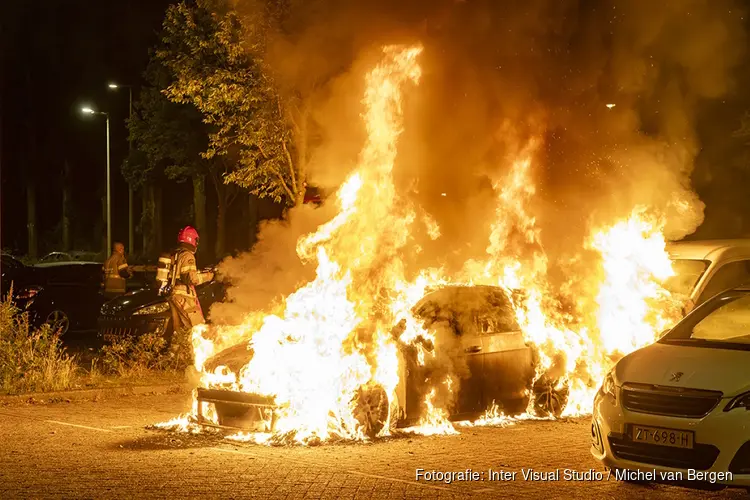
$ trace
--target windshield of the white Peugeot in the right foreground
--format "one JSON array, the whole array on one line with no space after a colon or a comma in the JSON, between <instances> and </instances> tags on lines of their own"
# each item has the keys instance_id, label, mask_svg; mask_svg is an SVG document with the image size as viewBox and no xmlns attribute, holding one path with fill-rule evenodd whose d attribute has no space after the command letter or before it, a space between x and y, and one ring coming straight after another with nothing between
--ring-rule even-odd
<instances>
[{"instance_id":1,"label":"windshield of the white Peugeot in the right foreground","mask_svg":"<svg viewBox=\"0 0 750 500\"><path fill-rule=\"evenodd\" d=\"M686 318L665 340L750 344L750 294L725 295L712 302L707 304L707 315Z\"/></svg>"}]
</instances>

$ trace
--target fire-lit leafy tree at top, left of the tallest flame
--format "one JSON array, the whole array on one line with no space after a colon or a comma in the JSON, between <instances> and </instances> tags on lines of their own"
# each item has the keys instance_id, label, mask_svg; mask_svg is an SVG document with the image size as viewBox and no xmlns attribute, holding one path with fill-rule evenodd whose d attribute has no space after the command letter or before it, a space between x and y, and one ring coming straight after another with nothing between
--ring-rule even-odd
<instances>
[{"instance_id":1,"label":"fire-lit leafy tree at top, left of the tallest flame","mask_svg":"<svg viewBox=\"0 0 750 500\"><path fill-rule=\"evenodd\" d=\"M165 94L195 105L212 127L203 156L236 160L235 168L225 171L225 182L261 198L300 203L307 149L299 139L304 126L295 126L299 120L292 111L300 107L282 98L257 56L260 38L247 37L243 20L226 0L172 5L163 29L158 56L175 77ZM252 43L244 43L247 38Z\"/></svg>"}]
</instances>

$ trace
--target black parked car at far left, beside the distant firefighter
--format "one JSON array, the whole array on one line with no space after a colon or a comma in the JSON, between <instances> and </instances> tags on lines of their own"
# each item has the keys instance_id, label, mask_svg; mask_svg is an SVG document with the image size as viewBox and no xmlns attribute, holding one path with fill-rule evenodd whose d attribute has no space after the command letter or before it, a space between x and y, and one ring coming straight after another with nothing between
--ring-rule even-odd
<instances>
[{"instance_id":1,"label":"black parked car at far left, beside the distant firefighter","mask_svg":"<svg viewBox=\"0 0 750 500\"><path fill-rule=\"evenodd\" d=\"M49 324L63 335L66 343L74 340L72 332L96 330L96 317L105 302L101 294L100 263L50 262L28 266L23 281L24 285L14 291L14 300L29 313L32 325Z\"/></svg>"}]
</instances>

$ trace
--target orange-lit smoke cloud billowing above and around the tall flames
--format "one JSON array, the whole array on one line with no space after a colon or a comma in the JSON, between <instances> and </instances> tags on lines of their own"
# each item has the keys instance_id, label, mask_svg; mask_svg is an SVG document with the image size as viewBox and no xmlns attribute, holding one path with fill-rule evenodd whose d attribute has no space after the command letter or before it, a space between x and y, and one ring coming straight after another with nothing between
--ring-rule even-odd
<instances>
[{"instance_id":1,"label":"orange-lit smoke cloud billowing above and around the tall flames","mask_svg":"<svg viewBox=\"0 0 750 500\"><path fill-rule=\"evenodd\" d=\"M270 3L280 4L236 6L262 18ZM458 269L485 253L493 184L502 185L531 139L540 145L529 212L551 263L580 253L592 227L637 205L665 217L670 239L702 222L704 207L690 184L700 149L695 120L707 101L732 90L745 45L739 2L281 4L283 15L264 18L272 25L265 56L282 91L310 104L311 184L335 188L356 165L363 77L379 47L424 45L394 172L398 192L440 227L435 241L415 232L420 267ZM244 291L235 292L243 294L237 304L220 306L219 316L262 307L309 276L294 253L296 238L325 214L306 212L295 209L291 222L267 225L249 256L222 266Z\"/></svg>"}]
</instances>

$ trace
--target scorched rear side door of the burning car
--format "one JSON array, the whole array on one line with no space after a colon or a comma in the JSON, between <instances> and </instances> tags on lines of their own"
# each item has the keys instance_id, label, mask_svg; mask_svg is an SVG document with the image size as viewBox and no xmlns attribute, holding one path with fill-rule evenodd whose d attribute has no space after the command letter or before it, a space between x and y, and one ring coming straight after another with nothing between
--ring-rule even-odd
<instances>
[{"instance_id":1,"label":"scorched rear side door of the burning car","mask_svg":"<svg viewBox=\"0 0 750 500\"><path fill-rule=\"evenodd\" d=\"M532 350L526 345L510 300L492 291L485 309L474 313L481 338L484 408L498 405L506 414L526 409L534 377Z\"/></svg>"}]
</instances>

